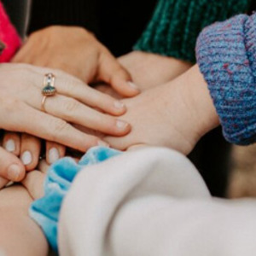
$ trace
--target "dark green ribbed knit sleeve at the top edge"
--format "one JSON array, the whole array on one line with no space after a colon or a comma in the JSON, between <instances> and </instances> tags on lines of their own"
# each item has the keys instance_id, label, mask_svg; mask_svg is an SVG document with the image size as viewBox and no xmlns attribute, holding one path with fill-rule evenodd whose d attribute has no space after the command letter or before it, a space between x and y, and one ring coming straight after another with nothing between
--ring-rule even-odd
<instances>
[{"instance_id":1,"label":"dark green ribbed knit sleeve at the top edge","mask_svg":"<svg viewBox=\"0 0 256 256\"><path fill-rule=\"evenodd\" d=\"M245 13L252 0L159 0L152 20L134 46L160 55L195 62L195 42L215 21Z\"/></svg>"}]
</instances>

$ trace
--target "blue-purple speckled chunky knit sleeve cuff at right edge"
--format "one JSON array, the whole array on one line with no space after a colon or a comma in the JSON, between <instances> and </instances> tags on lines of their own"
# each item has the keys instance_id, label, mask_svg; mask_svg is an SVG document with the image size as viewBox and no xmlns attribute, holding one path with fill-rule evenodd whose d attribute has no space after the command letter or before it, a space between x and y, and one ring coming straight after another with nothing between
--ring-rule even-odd
<instances>
[{"instance_id":1,"label":"blue-purple speckled chunky knit sleeve cuff at right edge","mask_svg":"<svg viewBox=\"0 0 256 256\"><path fill-rule=\"evenodd\" d=\"M224 137L241 145L256 142L256 14L205 28L196 55Z\"/></svg>"}]
</instances>

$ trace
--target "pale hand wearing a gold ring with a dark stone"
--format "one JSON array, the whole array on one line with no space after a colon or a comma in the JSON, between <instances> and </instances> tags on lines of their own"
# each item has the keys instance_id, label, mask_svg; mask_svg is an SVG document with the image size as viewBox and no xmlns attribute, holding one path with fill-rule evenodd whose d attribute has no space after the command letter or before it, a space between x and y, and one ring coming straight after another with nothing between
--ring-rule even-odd
<instances>
[{"instance_id":1,"label":"pale hand wearing a gold ring with a dark stone","mask_svg":"<svg viewBox=\"0 0 256 256\"><path fill-rule=\"evenodd\" d=\"M55 74L57 90L57 94L48 97L45 102L47 113L40 111L45 73ZM3 64L0 67L0 79L0 124L4 130L25 132L80 151L86 151L87 148L103 142L97 137L78 131L67 122L114 136L121 136L130 131L130 126L125 122L100 113L83 103L105 109L105 112L115 115L125 112L123 104L89 86L84 86L79 79L74 79L66 73L29 65ZM19 138L16 137L14 141L17 142L15 152L18 154ZM5 138L4 142L6 146ZM39 149L36 152L38 154Z\"/></svg>"}]
</instances>

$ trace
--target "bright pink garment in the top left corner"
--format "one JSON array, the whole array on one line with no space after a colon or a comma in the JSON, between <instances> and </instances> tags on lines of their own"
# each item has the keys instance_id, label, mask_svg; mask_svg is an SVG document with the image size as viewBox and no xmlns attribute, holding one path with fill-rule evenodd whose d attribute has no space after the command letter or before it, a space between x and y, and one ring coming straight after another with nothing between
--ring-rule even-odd
<instances>
[{"instance_id":1,"label":"bright pink garment in the top left corner","mask_svg":"<svg viewBox=\"0 0 256 256\"><path fill-rule=\"evenodd\" d=\"M15 55L15 52L20 47L20 37L11 24L8 15L6 14L3 3L0 2L0 41L5 45L0 62L8 62Z\"/></svg>"}]
</instances>

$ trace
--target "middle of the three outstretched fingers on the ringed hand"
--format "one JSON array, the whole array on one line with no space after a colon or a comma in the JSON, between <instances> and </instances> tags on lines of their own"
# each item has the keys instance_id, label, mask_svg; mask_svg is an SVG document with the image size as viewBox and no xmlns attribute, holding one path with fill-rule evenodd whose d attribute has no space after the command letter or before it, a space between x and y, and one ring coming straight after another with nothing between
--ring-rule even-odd
<instances>
[{"instance_id":1,"label":"middle of the three outstretched fingers on the ringed hand","mask_svg":"<svg viewBox=\"0 0 256 256\"><path fill-rule=\"evenodd\" d=\"M42 93L38 88L32 88L33 97L26 99L27 104L33 108L42 108ZM70 123L83 125L87 128L102 131L113 136L124 136L131 131L131 126L125 121L115 119L95 109L89 108L81 102L56 94L48 96L44 102L46 113L64 119Z\"/></svg>"}]
</instances>

